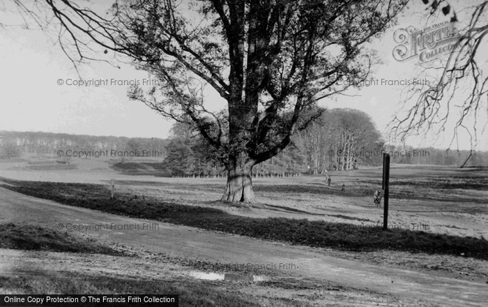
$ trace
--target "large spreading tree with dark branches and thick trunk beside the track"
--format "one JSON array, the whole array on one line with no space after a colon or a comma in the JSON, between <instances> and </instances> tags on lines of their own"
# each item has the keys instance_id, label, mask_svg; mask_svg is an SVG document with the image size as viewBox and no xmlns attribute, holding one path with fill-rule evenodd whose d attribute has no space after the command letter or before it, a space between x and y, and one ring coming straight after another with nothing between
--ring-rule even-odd
<instances>
[{"instance_id":1,"label":"large spreading tree with dark branches and thick trunk beside the track","mask_svg":"<svg viewBox=\"0 0 488 307\"><path fill-rule=\"evenodd\" d=\"M64 47L71 59L90 59L84 52L94 42L158 79L150 89L133 88L131 97L195 123L226 157L222 200L231 202L256 201L252 167L287 147L308 122L304 110L344 91L341 84L367 78L374 58L363 46L406 2L127 0L105 17L74 1L45 0L61 27L61 45L68 40L78 56ZM227 101L223 119L204 103L205 85Z\"/></svg>"}]
</instances>

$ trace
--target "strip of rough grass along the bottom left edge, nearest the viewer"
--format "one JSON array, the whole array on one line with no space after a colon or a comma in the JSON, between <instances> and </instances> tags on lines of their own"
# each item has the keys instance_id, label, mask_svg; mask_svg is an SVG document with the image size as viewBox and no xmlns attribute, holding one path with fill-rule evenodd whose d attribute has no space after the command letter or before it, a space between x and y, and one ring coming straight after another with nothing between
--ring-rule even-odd
<instances>
[{"instance_id":1,"label":"strip of rough grass along the bottom left edge, nearest the viewer","mask_svg":"<svg viewBox=\"0 0 488 307\"><path fill-rule=\"evenodd\" d=\"M2 294L178 294L179 306L309 306L286 299L245 297L190 280L135 280L102 276L0 276Z\"/></svg>"}]
</instances>

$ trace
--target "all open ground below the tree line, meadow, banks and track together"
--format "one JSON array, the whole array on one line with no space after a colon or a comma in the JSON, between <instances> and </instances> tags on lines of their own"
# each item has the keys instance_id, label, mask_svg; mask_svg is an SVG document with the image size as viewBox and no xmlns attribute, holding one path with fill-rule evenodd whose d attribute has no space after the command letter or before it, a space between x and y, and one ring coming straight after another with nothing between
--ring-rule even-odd
<instances>
[{"instance_id":1,"label":"all open ground below the tree line, meadow, banks and track together","mask_svg":"<svg viewBox=\"0 0 488 307\"><path fill-rule=\"evenodd\" d=\"M381 172L329 172L330 186L255 178L259 203L245 207L218 201L224 178L162 177L156 162L3 160L0 289L169 291L181 306L482 306L488 170L393 164L387 232L373 204Z\"/></svg>"}]
</instances>

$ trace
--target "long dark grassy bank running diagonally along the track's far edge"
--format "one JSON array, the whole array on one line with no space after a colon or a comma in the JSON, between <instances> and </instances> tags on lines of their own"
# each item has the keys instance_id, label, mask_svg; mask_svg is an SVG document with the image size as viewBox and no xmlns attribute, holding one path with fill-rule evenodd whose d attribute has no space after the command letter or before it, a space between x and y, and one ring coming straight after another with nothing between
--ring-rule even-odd
<instances>
[{"instance_id":1,"label":"long dark grassy bank running diagonally along the track's far edge","mask_svg":"<svg viewBox=\"0 0 488 307\"><path fill-rule=\"evenodd\" d=\"M4 188L70 206L289 244L355 251L401 250L488 260L488 241L473 237L432 234L418 230L385 232L379 227L357 227L351 224L289 218L247 218L232 216L215 208L135 200L132 195L119 194L116 199L111 200L107 187L95 184L13 180L6 182L10 185L3 185Z\"/></svg>"}]
</instances>

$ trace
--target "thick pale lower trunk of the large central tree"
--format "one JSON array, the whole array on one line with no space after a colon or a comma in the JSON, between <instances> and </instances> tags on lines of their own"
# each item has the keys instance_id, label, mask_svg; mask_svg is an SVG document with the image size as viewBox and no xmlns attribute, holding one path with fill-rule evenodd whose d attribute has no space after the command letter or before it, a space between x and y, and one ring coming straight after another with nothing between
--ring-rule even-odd
<instances>
[{"instance_id":1,"label":"thick pale lower trunk of the large central tree","mask_svg":"<svg viewBox=\"0 0 488 307\"><path fill-rule=\"evenodd\" d=\"M224 195L222 195L222 201L245 202L247 204L257 202L252 190L253 165L254 161L247 158L245 153L238 157L229 158L227 186Z\"/></svg>"}]
</instances>

